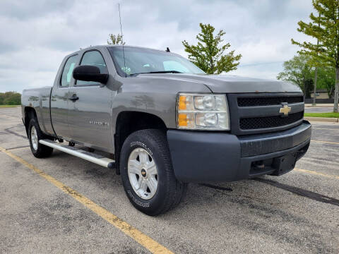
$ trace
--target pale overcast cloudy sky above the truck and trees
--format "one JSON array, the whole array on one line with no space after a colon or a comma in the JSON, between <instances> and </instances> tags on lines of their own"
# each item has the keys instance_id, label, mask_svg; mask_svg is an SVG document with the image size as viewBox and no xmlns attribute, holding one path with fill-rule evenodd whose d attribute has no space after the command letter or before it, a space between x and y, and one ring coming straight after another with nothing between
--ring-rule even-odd
<instances>
[{"instance_id":1,"label":"pale overcast cloudy sky above the truck and trees","mask_svg":"<svg viewBox=\"0 0 339 254\"><path fill-rule=\"evenodd\" d=\"M308 39L297 22L312 11L311 0L1 0L0 92L52 85L66 54L107 44L120 32L118 2L126 44L186 57L182 40L195 43L198 24L210 23L242 54L227 74L270 79L297 52L290 39Z\"/></svg>"}]
</instances>

